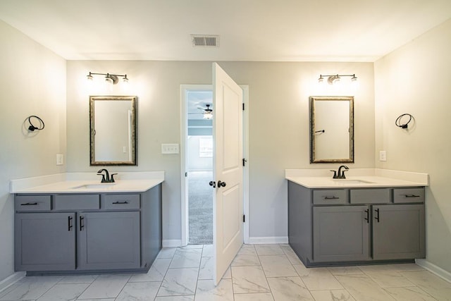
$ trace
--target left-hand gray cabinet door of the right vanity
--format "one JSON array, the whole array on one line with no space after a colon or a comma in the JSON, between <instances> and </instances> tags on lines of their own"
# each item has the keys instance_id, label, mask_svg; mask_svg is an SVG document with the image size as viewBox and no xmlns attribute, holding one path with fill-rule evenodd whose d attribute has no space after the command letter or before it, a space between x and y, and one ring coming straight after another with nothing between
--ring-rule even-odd
<instances>
[{"instance_id":1,"label":"left-hand gray cabinet door of the right vanity","mask_svg":"<svg viewBox=\"0 0 451 301\"><path fill-rule=\"evenodd\" d=\"M369 259L367 206L314 207L314 262Z\"/></svg>"}]
</instances>

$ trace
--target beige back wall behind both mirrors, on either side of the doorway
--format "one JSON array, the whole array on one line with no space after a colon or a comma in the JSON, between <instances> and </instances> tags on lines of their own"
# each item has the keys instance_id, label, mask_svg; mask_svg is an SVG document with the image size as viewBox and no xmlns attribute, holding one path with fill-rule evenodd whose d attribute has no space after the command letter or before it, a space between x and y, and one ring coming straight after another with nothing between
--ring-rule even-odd
<instances>
[{"instance_id":1,"label":"beige back wall behind both mirrors, on either side of the doorway","mask_svg":"<svg viewBox=\"0 0 451 301\"><path fill-rule=\"evenodd\" d=\"M249 85L249 235L287 234L285 168L337 168L309 164L309 96L355 95L355 164L374 166L373 63L220 62L240 85ZM88 90L87 73L119 73L119 86ZM359 90L319 90L319 74L356 73ZM343 80L345 81L345 80ZM132 94L138 99L138 166L111 171L166 171L163 183L163 239L180 240L180 156L161 154L161 143L180 143L180 85L211 84L211 63L195 61L68 61L68 171L89 166L89 106L92 94Z\"/></svg>"}]
</instances>

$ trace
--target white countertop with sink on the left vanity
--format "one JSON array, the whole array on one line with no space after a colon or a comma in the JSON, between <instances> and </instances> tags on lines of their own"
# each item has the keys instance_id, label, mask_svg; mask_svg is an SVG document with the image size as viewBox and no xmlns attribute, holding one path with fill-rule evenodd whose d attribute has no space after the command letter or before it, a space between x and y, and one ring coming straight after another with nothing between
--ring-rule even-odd
<instances>
[{"instance_id":1,"label":"white countertop with sink on the left vanity","mask_svg":"<svg viewBox=\"0 0 451 301\"><path fill-rule=\"evenodd\" d=\"M115 183L100 183L90 174L64 173L11 180L11 193L117 193L144 192L164 181L164 172L118 174Z\"/></svg>"}]
</instances>

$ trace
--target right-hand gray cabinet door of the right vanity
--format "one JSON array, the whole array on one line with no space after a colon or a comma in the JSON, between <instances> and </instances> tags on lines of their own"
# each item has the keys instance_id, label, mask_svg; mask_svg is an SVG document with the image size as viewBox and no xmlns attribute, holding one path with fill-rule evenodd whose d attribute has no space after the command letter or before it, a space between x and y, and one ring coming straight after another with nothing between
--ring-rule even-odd
<instances>
[{"instance_id":1,"label":"right-hand gray cabinet door of the right vanity","mask_svg":"<svg viewBox=\"0 0 451 301\"><path fill-rule=\"evenodd\" d=\"M373 206L373 258L424 258L424 204Z\"/></svg>"}]
</instances>

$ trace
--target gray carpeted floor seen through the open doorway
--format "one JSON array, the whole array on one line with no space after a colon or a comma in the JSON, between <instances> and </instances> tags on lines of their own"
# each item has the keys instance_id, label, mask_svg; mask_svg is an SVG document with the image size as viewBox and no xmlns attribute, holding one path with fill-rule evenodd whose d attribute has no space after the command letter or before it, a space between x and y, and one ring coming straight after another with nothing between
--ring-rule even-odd
<instances>
[{"instance_id":1,"label":"gray carpeted floor seen through the open doorway","mask_svg":"<svg viewBox=\"0 0 451 301\"><path fill-rule=\"evenodd\" d=\"M190 244L213 243L213 171L188 172Z\"/></svg>"}]
</instances>

